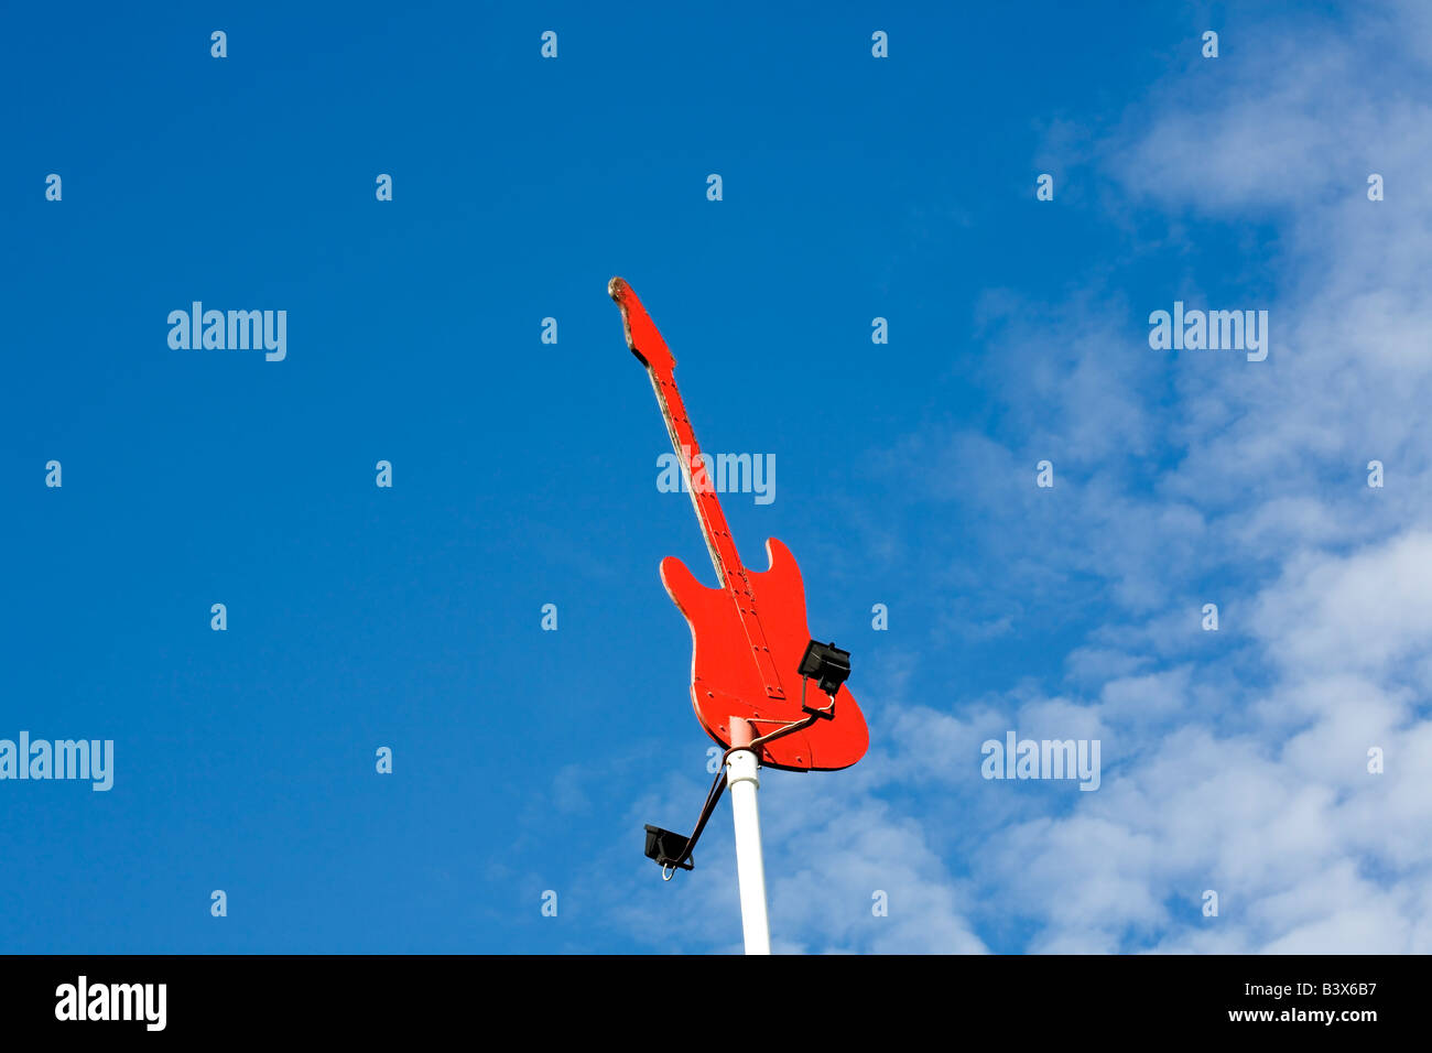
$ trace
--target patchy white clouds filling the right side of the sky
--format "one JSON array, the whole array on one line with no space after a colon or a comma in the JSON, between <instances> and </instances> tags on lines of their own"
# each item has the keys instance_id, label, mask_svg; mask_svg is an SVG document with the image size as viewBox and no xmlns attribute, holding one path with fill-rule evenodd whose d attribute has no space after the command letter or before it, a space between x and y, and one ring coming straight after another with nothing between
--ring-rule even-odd
<instances>
[{"instance_id":1,"label":"patchy white clouds filling the right side of the sky","mask_svg":"<svg viewBox=\"0 0 1432 1053\"><path fill-rule=\"evenodd\" d=\"M1379 20L1259 40L1259 62L1203 93L1170 83L1093 153L1147 208L1276 225L1276 294L1247 304L1270 311L1269 361L1151 355L1118 298L1031 312L1001 295L987 314L1032 318L991 357L1018 427L904 447L944 447L944 489L916 514L978 517L1011 607L1041 590L1113 605L1067 658L1077 693L911 711L886 745L894 792L962 756L991 713L1104 738L1095 794L1005 784L991 828L959 811L978 788L955 768L958 804L931 809L982 831L967 914L1021 918L1028 950L1432 950L1432 202L1413 189L1432 110L1376 69L1432 49ZM1366 199L1370 170L1386 202ZM1150 484L1140 460L1160 450L1174 466ZM1024 479L1035 457L1063 466L1057 511ZM1385 490L1365 484L1372 458ZM1216 635L1197 629L1204 599Z\"/></svg>"}]
</instances>

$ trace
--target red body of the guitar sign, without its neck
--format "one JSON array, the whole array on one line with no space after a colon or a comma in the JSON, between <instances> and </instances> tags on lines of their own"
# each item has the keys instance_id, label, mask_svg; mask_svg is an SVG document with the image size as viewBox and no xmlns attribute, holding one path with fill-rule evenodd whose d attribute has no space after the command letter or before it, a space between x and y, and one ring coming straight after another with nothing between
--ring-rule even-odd
<instances>
[{"instance_id":1,"label":"red body of the guitar sign, without its neck","mask_svg":"<svg viewBox=\"0 0 1432 1053\"><path fill-rule=\"evenodd\" d=\"M748 576L773 663L785 673L782 682L792 685L785 699L766 695L727 590L702 585L674 556L662 560L662 585L692 629L692 706L702 728L722 746L730 746L727 722L732 716L755 722L758 735L805 716L800 678L795 672L811 642L805 585L790 550L775 537L766 542L766 556L770 569L748 570ZM829 705L813 685L806 701L812 706ZM838 719L816 721L805 731L766 744L762 764L793 771L833 771L859 761L871 736L843 683L835 696L835 713Z\"/></svg>"}]
</instances>

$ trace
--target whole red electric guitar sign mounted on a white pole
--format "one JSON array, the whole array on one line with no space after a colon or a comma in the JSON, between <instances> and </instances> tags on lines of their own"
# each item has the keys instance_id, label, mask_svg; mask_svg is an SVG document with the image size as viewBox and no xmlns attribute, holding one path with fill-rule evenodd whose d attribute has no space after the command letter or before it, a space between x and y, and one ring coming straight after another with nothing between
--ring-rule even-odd
<instances>
[{"instance_id":1,"label":"whole red electric guitar sign mounted on a white pole","mask_svg":"<svg viewBox=\"0 0 1432 1053\"><path fill-rule=\"evenodd\" d=\"M627 347L652 377L672 448L696 506L717 587L696 580L674 556L662 560L662 583L692 629L692 705L702 728L730 746L729 721L750 721L758 735L800 721L802 678L796 672L811 642L800 569L785 544L766 542L768 570L750 570L736 553L720 500L700 460L700 446L676 388L676 360L636 292L621 278L607 287L621 308ZM809 702L825 705L816 693ZM762 764L795 771L848 768L865 755L869 732L849 689L835 695L833 719L760 746Z\"/></svg>"}]
</instances>

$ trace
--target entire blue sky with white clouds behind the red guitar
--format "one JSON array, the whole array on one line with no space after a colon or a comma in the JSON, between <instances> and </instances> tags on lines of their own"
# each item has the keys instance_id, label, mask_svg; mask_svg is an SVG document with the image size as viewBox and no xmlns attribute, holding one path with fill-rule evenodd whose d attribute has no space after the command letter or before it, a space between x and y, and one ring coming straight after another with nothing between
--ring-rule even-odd
<instances>
[{"instance_id":1,"label":"entire blue sky with white clouds behind the red guitar","mask_svg":"<svg viewBox=\"0 0 1432 1053\"><path fill-rule=\"evenodd\" d=\"M116 759L0 782L0 950L737 947L725 807L640 852L706 560L617 274L871 722L763 781L776 950L1432 950L1432 23L1300 7L9 11L0 738ZM1010 729L1100 789L982 779Z\"/></svg>"}]
</instances>

